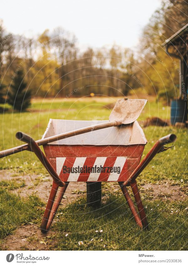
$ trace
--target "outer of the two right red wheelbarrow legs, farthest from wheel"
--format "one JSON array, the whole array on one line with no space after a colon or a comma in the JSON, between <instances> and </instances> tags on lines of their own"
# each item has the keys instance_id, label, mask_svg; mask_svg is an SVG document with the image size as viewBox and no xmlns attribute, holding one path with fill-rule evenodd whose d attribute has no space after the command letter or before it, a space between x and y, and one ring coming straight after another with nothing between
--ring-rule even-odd
<instances>
[{"instance_id":1,"label":"outer of the two right red wheelbarrow legs, farthest from wheel","mask_svg":"<svg viewBox=\"0 0 188 266\"><path fill-rule=\"evenodd\" d=\"M144 211L144 206L142 204L142 200L140 198L140 193L139 193L139 190L138 190L138 186L137 186L136 180L134 180L133 182L130 182L130 186L131 186L131 188L133 190L133 195L134 195L134 198L135 198L135 201L136 201L136 205L138 207L138 212L139 212L139 215L140 215L140 218L141 218L141 221L142 221L143 228L144 229L148 229L148 221L147 221L147 218L146 218L146 214L145 214L145 211Z\"/></svg>"}]
</instances>

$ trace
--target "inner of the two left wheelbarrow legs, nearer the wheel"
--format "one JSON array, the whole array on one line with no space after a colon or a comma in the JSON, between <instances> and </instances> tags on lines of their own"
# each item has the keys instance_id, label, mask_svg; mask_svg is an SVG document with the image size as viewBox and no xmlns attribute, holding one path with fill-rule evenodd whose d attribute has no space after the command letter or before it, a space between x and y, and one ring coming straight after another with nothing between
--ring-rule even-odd
<instances>
[{"instance_id":1,"label":"inner of the two left wheelbarrow legs, nearer the wheel","mask_svg":"<svg viewBox=\"0 0 188 266\"><path fill-rule=\"evenodd\" d=\"M58 192L57 198L54 202L54 205L52 206L52 210L50 212L50 217L47 223L46 231L50 229L50 226L54 220L55 214L58 210L58 207L60 206L61 200L63 198L63 195L65 194L65 190L68 186L69 182L65 182L65 186L60 188L60 191Z\"/></svg>"}]
</instances>

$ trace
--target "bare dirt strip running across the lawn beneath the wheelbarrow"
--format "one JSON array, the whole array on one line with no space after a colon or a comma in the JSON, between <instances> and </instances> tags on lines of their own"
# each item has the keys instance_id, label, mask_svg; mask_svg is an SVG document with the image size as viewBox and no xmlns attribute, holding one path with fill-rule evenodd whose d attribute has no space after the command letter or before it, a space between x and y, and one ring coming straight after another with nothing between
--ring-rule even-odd
<instances>
[{"instance_id":1,"label":"bare dirt strip running across the lawn beneath the wheelbarrow","mask_svg":"<svg viewBox=\"0 0 188 266\"><path fill-rule=\"evenodd\" d=\"M17 189L10 190L13 193L19 194L22 197L28 197L30 195L39 196L42 201L47 201L50 194L52 179L50 176L41 177L39 175L19 175L15 176L13 173L8 172L7 170L0 171L0 185L2 181L14 182L19 184L23 182L24 186ZM107 183L106 183L107 184ZM104 187L104 191L109 189L119 190L117 183L108 183ZM163 200L184 200L186 197L186 192L188 191L187 187L181 187L174 185L170 182L165 182L163 184L146 184L139 187L140 191L147 193L153 200L163 199ZM67 190L65 192L64 202L68 204L73 201L75 198L80 196L86 196L86 183L84 182L70 182Z\"/></svg>"}]
</instances>

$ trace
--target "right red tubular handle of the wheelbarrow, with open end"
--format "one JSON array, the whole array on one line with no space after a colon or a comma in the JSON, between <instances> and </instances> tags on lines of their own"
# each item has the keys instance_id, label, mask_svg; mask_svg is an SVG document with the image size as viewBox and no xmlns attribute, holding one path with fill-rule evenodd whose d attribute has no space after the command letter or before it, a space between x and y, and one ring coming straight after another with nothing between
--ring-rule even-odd
<instances>
[{"instance_id":1,"label":"right red tubular handle of the wheelbarrow, with open end","mask_svg":"<svg viewBox=\"0 0 188 266\"><path fill-rule=\"evenodd\" d=\"M123 185L130 185L129 183L133 182L138 175L144 170L144 168L149 164L149 162L154 158L154 156L164 151L163 146L168 143L172 143L176 140L175 134L169 134L163 138L160 138L153 146L153 148L149 151L148 154L144 157L144 159L140 162L140 164L137 166L137 168L133 171L133 173L130 175L128 180L126 180Z\"/></svg>"}]
</instances>

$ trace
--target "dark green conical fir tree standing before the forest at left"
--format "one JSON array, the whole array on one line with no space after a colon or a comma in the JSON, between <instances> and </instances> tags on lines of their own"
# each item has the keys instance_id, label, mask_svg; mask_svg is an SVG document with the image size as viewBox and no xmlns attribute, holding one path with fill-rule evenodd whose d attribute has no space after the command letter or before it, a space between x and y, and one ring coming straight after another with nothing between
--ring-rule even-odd
<instances>
[{"instance_id":1,"label":"dark green conical fir tree standing before the forest at left","mask_svg":"<svg viewBox=\"0 0 188 266\"><path fill-rule=\"evenodd\" d=\"M26 89L23 70L19 70L8 90L7 102L17 111L24 111L30 105L31 91Z\"/></svg>"}]
</instances>

